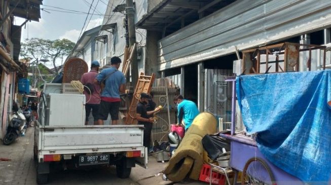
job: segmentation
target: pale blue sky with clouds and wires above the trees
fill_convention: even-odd
[[[39,22],[28,22],[25,26],[25,29],[23,26],[21,42],[23,42],[26,38],[37,37],[50,40],[67,38],[76,43],[87,14],[71,14],[53,10],[66,11],[58,9],[62,8],[87,13],[92,1],[93,0],[44,0],[43,5],[41,5],[41,8],[45,9],[44,11],[41,11],[42,18],[39,20]],[[107,4],[108,0],[94,0],[94,7],[97,2],[98,5],[94,14],[104,14],[107,8],[105,4]],[[90,13],[92,13],[93,10],[94,8],[91,9]],[[91,16],[89,15],[88,19],[86,20],[84,30],[89,30],[98,25],[101,25],[102,23],[103,16],[93,15],[88,24],[90,17]],[[20,25],[23,21],[23,19],[15,18],[14,24]]]

